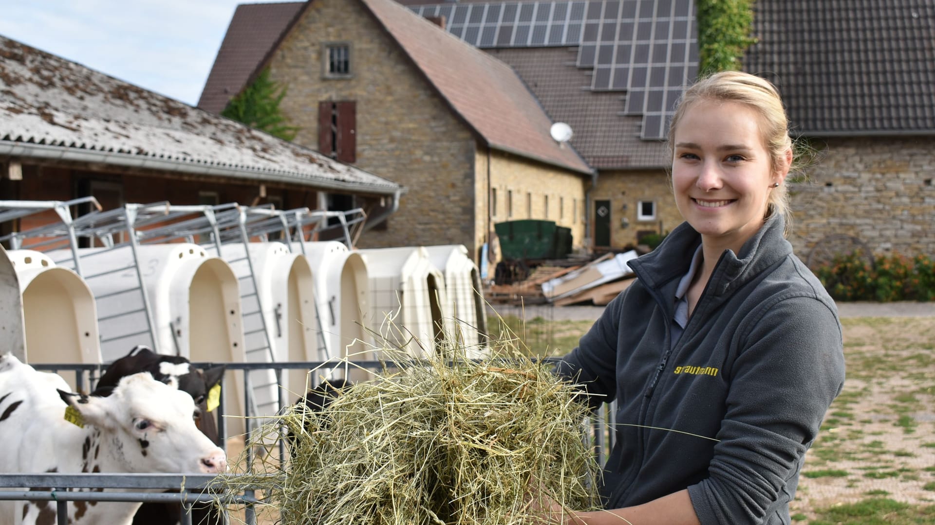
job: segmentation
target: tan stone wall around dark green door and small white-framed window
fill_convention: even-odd
[[[669,175],[662,170],[602,170],[597,177],[597,187],[591,192],[588,208],[591,222],[594,221],[594,202],[604,200],[611,201],[611,248],[636,245],[638,232],[665,234],[683,222],[672,197]],[[640,201],[655,203],[655,220],[637,220]]]

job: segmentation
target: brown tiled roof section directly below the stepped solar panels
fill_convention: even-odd
[[[485,50],[510,64],[554,121],[571,126],[571,145],[597,169],[670,163],[664,142],[640,139],[642,116],[620,115],[626,94],[590,90],[589,70],[575,65],[577,48]]]

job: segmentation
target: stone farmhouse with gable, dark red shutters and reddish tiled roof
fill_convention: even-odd
[[[198,106],[220,112],[266,68],[295,142],[407,188],[360,246],[464,244],[478,261],[494,223],[526,218],[582,245],[592,168],[509,65],[432,21],[393,0],[241,5]]]

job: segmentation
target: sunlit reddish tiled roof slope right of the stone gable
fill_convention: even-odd
[[[560,148],[536,97],[512,68],[445,33],[394,0],[361,0],[439,94],[494,149],[590,173],[574,149]]]

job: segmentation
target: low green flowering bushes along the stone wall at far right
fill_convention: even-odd
[[[831,297],[839,301],[933,301],[935,261],[928,255],[912,259],[894,253],[880,255],[870,266],[859,250],[836,256],[815,270]]]

